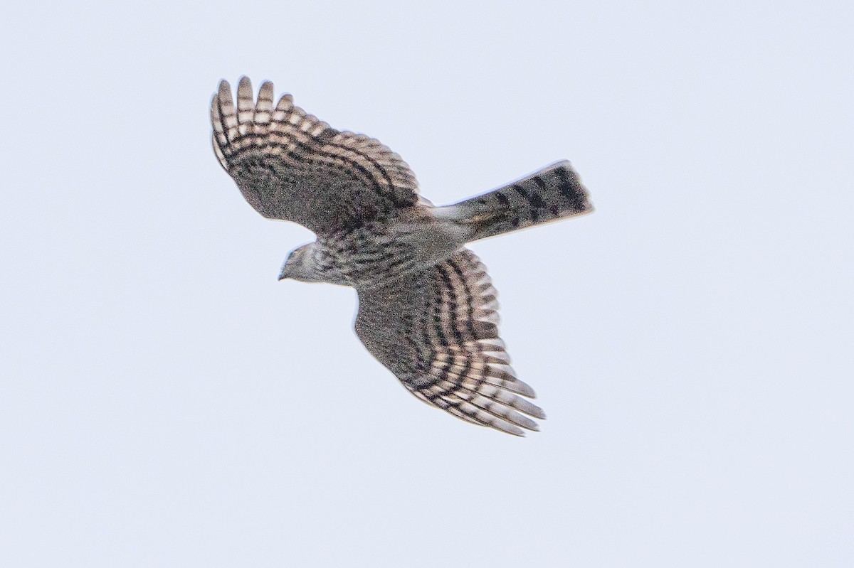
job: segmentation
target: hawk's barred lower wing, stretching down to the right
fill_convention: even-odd
[[[475,424],[524,436],[542,410],[518,380],[498,336],[495,288],[475,254],[359,292],[356,333],[368,351],[426,403]],[[521,428],[519,427],[521,426]]]

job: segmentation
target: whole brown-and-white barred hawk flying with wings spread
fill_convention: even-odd
[[[294,105],[257,99],[249,78],[211,102],[213,151],[262,216],[317,235],[279,279],[354,287],[355,331],[413,395],[457,418],[524,436],[545,418],[524,397],[498,334],[497,293],[465,244],[592,212],[568,161],[450,206],[418,194],[415,176],[379,141],[336,130]],[[521,396],[520,396],[521,395]]]

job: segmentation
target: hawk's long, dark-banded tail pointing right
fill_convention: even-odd
[[[470,226],[470,241],[478,241],[583,215],[593,211],[593,204],[578,174],[564,159],[488,193],[434,211],[437,217]]]

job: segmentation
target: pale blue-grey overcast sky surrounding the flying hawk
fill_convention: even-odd
[[[54,4],[0,36],[0,565],[854,565],[851,3]],[[541,432],[276,280],[242,74],[436,204],[572,161],[593,215],[472,246]]]

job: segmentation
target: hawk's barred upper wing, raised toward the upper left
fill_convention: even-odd
[[[415,176],[399,155],[368,136],[330,128],[290,95],[273,107],[270,82],[255,102],[249,78],[241,78],[235,108],[222,81],[211,122],[219,163],[264,217],[329,234],[418,202]]]

